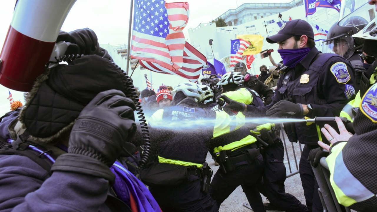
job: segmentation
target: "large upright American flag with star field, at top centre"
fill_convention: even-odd
[[[189,20],[187,2],[135,0],[131,58],[178,70],[183,63],[185,37],[182,29]]]

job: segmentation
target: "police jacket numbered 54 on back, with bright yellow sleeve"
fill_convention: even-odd
[[[192,124],[185,120],[198,121]],[[154,121],[173,123],[176,129],[156,128]],[[235,131],[244,123],[244,115],[229,116],[225,111],[198,108],[195,100],[188,98],[179,105],[156,111],[150,120],[150,134],[160,163],[201,168],[211,138]]]

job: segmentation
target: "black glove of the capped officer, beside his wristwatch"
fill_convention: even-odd
[[[299,103],[293,103],[287,100],[281,100],[274,104],[272,108],[270,108],[266,115],[272,117],[295,117],[295,118],[302,118],[303,117],[303,108],[302,105]]]

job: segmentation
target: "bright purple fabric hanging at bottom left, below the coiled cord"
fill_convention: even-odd
[[[147,187],[128,172],[121,163],[115,161],[110,170],[115,174],[113,188],[118,198],[127,204],[130,203],[130,195],[132,195],[137,203],[139,212],[161,212],[155,198],[150,194]]]

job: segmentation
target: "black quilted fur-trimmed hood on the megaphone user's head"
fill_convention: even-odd
[[[100,92],[116,89],[127,93],[124,72],[109,59],[85,55],[40,75],[25,93],[21,128],[38,143],[54,143],[72,129],[82,109]]]

